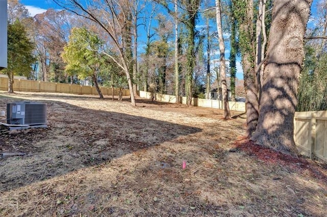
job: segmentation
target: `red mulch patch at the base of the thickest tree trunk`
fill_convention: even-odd
[[[282,152],[256,145],[251,140],[241,140],[235,143],[235,151],[243,151],[253,155],[261,161],[271,165],[287,167],[299,173],[309,171],[310,175],[324,183],[327,183],[327,165],[318,164],[315,161],[306,159],[303,156],[294,157]]]

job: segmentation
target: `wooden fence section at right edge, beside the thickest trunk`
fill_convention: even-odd
[[[327,161],[327,111],[296,112],[294,140],[302,154]]]

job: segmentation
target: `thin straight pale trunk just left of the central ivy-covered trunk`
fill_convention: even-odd
[[[175,0],[175,96],[179,103],[179,63],[178,63],[178,7]]]

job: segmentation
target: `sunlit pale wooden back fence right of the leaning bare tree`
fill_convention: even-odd
[[[151,92],[139,91],[139,96],[142,98],[151,99],[154,95]],[[176,102],[176,96],[166,94],[155,94],[155,99],[161,102]],[[181,97],[180,103],[186,104],[186,97]],[[193,106],[209,107],[209,108],[222,108],[222,101],[213,99],[198,99],[192,98]],[[230,110],[245,112],[244,102],[229,102]]]

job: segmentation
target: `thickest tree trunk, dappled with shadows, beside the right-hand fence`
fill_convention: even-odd
[[[297,153],[293,120],[304,57],[303,36],[312,1],[274,1],[258,128],[251,138],[291,154]]]

